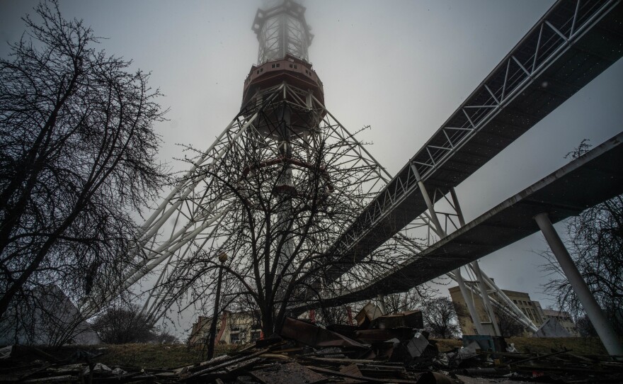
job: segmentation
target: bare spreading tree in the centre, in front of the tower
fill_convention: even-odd
[[[259,110],[243,108],[242,115],[260,117],[227,152],[217,157],[198,151],[212,161],[204,160],[210,165],[193,174],[204,186],[187,200],[222,215],[210,237],[200,239],[166,279],[169,290],[191,292],[190,300],[210,307],[223,269],[223,292],[248,296],[267,336],[279,331],[291,303],[321,301],[406,258],[385,244],[338,281],[328,278],[329,269],[348,264],[328,251],[370,201],[373,193],[362,183],[378,179],[379,169],[353,153],[350,134],[322,123],[321,112],[268,95]],[[253,101],[246,108],[258,107]],[[390,252],[396,253],[390,258]],[[228,258],[221,264],[217,256],[223,253]]]

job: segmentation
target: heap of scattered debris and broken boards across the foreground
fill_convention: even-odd
[[[288,318],[279,334],[210,361],[167,369],[107,366],[81,351],[61,360],[35,348],[3,349],[2,383],[595,383],[621,382],[623,363],[563,349],[526,354],[501,338],[466,336],[462,348],[438,351],[421,314],[381,316],[358,325]],[[512,351],[512,352],[511,352]],[[581,354],[581,351],[577,352]],[[30,360],[24,356],[31,356]]]

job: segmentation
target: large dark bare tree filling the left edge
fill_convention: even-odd
[[[0,60],[0,316],[56,283],[74,302],[119,286],[137,225],[164,181],[149,75],[97,51],[57,1],[26,16]]]

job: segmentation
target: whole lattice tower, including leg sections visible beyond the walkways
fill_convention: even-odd
[[[296,298],[288,297],[293,302],[299,299],[304,302],[309,287],[316,294],[331,288],[332,295],[341,295],[417,255],[434,242],[435,236],[446,235],[434,204],[429,204],[429,210],[407,227],[394,225],[387,229],[389,240],[378,234],[383,238],[378,243],[391,249],[389,254],[379,256],[379,268],[358,270],[361,260],[341,250],[344,244],[358,241],[358,237],[348,235],[348,230],[362,225],[358,221],[360,213],[379,214],[396,204],[396,200],[387,196],[382,196],[377,205],[370,204],[375,198],[379,200],[378,193],[384,186],[395,184],[396,193],[407,186],[400,178],[392,180],[324,105],[323,84],[309,62],[313,35],[304,13],[305,8],[291,0],[257,11],[252,29],[258,38],[258,64],[251,67],[244,81],[239,113],[210,147],[198,152],[190,170],[179,178],[175,188],[144,222],[142,235],[136,241],[134,260],[127,268],[126,283],[115,291],[98,292],[86,298],[81,307],[83,315],[93,315],[105,303],[142,281],[146,288],[143,293],[147,294],[143,311],[157,322],[184,295],[192,299],[209,294],[205,287],[214,280],[214,271],[219,267],[242,276],[244,281],[244,271],[252,269],[257,260],[250,260],[249,249],[234,239],[245,233],[244,228],[236,227],[242,215],[269,217],[270,225],[283,234],[280,235],[282,245],[270,259],[264,260],[283,277],[281,284],[287,282],[288,276],[321,264],[321,273],[302,284],[307,288],[302,288]],[[445,196],[446,192],[440,194]],[[462,221],[454,192],[452,201],[447,196],[444,198],[451,208],[450,213],[440,213],[445,215],[445,227],[448,218],[452,221],[458,217]],[[433,202],[437,200],[433,198]],[[310,207],[326,212],[319,220],[321,230],[306,237],[303,247],[307,256],[322,257],[302,267],[304,256],[293,253],[297,238],[292,233],[296,231],[288,229],[300,227],[300,221],[306,217],[300,213],[311,211]],[[339,213],[335,207],[343,210]],[[459,227],[454,222],[451,226]],[[428,232],[426,244],[414,241],[414,230]],[[269,244],[269,247],[273,246]],[[355,256],[356,252],[355,249]],[[223,253],[229,256],[227,265],[219,265]],[[197,260],[211,268],[203,273],[195,263]],[[476,263],[469,264],[469,268],[487,281],[488,277]],[[341,281],[347,272],[350,281],[348,278]],[[464,286],[459,269],[447,276]],[[198,281],[207,283],[198,287]],[[340,292],[336,290],[336,281]],[[468,288],[473,290],[462,289],[464,295],[468,294]],[[481,292],[485,289],[481,287]],[[501,290],[495,290],[505,304],[516,310]],[[519,310],[513,315],[527,327],[534,327]]]

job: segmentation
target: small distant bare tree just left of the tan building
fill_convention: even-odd
[[[450,339],[458,336],[457,311],[452,300],[434,298],[425,301],[421,307],[424,327],[433,337]]]

